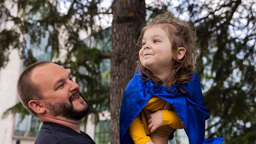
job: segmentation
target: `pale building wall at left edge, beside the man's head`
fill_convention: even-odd
[[[17,101],[16,84],[20,76],[21,69],[20,57],[18,51],[12,50],[9,55],[9,62],[5,68],[0,70],[0,116],[3,112],[14,106]],[[12,116],[8,116],[5,119],[0,119],[0,144],[12,143],[12,131],[13,131]]]

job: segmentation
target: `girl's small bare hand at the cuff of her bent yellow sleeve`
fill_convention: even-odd
[[[153,133],[157,128],[161,127],[163,123],[162,110],[158,110],[149,115],[148,129]]]

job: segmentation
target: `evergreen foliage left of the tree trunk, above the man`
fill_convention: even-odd
[[[104,45],[87,45],[79,37],[79,32],[83,31],[84,35],[98,33],[102,41],[104,38],[111,38],[109,32],[99,33],[102,28],[95,22],[97,18],[101,19],[100,13],[111,14],[111,9],[100,7],[100,3],[101,0],[1,1],[0,20],[4,27],[0,29],[0,68],[8,63],[12,49],[19,50],[24,68],[38,60],[52,60],[71,70],[72,76],[76,77],[76,82],[80,84],[91,113],[97,115],[102,109],[108,108],[109,84],[103,84],[101,80],[100,65],[103,59],[110,58],[110,51],[104,49]],[[70,6],[61,9],[61,4]],[[7,24],[10,25],[7,27]],[[41,51],[51,52],[51,58],[40,58],[37,54]],[[66,54],[59,58],[61,51]],[[18,103],[6,110],[3,116],[16,112],[21,114],[22,119],[29,114],[21,103]],[[87,117],[84,122],[86,119]]]

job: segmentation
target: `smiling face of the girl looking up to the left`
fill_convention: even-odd
[[[154,73],[170,69],[174,62],[170,39],[160,27],[145,31],[139,55],[141,64]]]

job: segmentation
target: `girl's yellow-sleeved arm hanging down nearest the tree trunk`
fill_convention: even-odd
[[[132,124],[129,126],[129,134],[132,137],[132,140],[135,144],[150,144],[152,142],[151,138],[147,136],[144,125],[140,120],[140,114],[132,121]],[[151,144],[154,144],[153,142]]]

